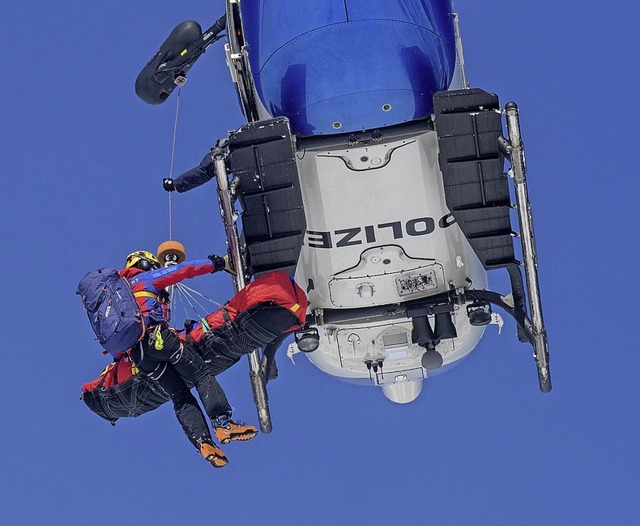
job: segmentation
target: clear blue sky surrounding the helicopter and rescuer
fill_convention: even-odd
[[[282,354],[273,433],[226,447],[223,470],[169,405],[112,428],[78,400],[107,360],[74,293],[167,239],[175,97],[148,106],[133,84],[175,24],[206,26],[224,2],[3,7],[3,523],[637,523],[637,6],[455,5],[470,82],[521,109],[554,390],[538,391],[509,323],[407,406]],[[176,173],[242,123],[219,43],[182,91]],[[224,250],[214,185],[173,213],[190,256]],[[200,279],[231,293],[226,276]],[[255,423],[246,364],[220,379]]]

